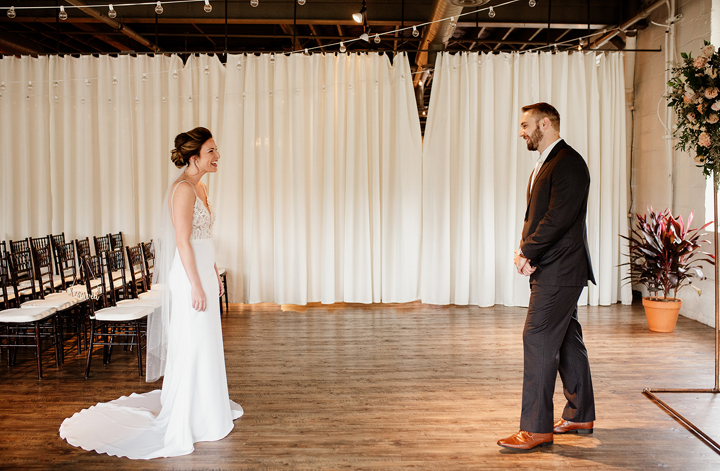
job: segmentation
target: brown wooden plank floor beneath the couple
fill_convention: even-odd
[[[716,454],[642,395],[644,387],[708,388],[714,330],[683,317],[647,330],[642,306],[580,308],[598,420],[591,436],[513,452],[523,308],[421,303],[231,305],[222,315],[230,398],[245,408],[220,442],[150,461],[71,447],[58,426],[81,408],[160,387],[131,352],[96,357],[84,379],[73,348],[37,380],[29,353],[0,357],[2,470],[720,470]],[[68,344],[69,348],[69,344]],[[665,395],[720,439],[720,398]],[[562,391],[555,395],[562,411]]]

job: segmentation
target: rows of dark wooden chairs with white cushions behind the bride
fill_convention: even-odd
[[[61,365],[63,340],[69,334],[76,337],[78,353],[88,347],[86,378],[94,346],[104,346],[107,363],[114,344],[137,349],[138,372],[143,375],[140,340],[146,333],[146,316],[157,303],[143,296],[150,290],[152,245],[122,250],[122,233],[114,241],[113,235],[94,237],[96,255],[90,253],[88,238],[73,244],[64,242],[64,234],[11,241],[9,252],[1,242],[0,347],[8,351],[9,366],[14,365],[18,347],[34,347],[42,378],[42,352],[54,347],[55,364]],[[53,277],[53,268],[59,279]]]

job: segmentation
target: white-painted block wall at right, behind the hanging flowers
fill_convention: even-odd
[[[720,1],[676,1],[675,14],[683,14],[683,18],[675,23],[677,59],[680,59],[680,52],[693,52],[693,56],[697,56],[703,40],[711,40],[711,12],[714,3]],[[667,7],[660,6],[652,12],[648,20],[665,23],[667,17]],[[718,47],[720,42],[716,41],[714,45]],[[664,49],[665,27],[649,24],[649,27],[640,30],[636,47]],[[658,119],[658,112],[665,118],[665,101],[661,99],[665,93],[666,68],[664,52],[636,54],[631,211],[644,214],[648,205],[652,205],[654,209],[670,207],[673,214],[681,214],[685,221],[690,211],[695,211],[692,227],[698,227],[706,220],[705,178],[688,153],[674,150],[676,140],[672,140],[671,157],[670,161],[668,160],[665,146],[667,132]],[[709,233],[707,238],[712,239],[713,234]],[[713,247],[708,244],[704,251],[712,253]],[[693,282],[703,291],[702,296],[698,296],[690,287],[685,287],[678,293],[678,297],[683,299],[680,314],[714,326],[714,269],[711,266],[704,268],[708,279]]]

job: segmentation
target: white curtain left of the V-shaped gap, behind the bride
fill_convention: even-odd
[[[421,140],[407,57],[272,60],[2,58],[0,238],[149,240],[174,136],[204,126],[222,155],[208,183],[232,301],[418,299]]]

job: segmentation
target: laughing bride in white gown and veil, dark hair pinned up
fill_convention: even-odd
[[[217,172],[212,134],[178,134],[172,160],[181,169],[163,199],[153,288],[161,308],[148,316],[148,381],[162,390],[122,396],[75,413],[60,425],[69,444],[131,459],[189,454],[195,442],[227,436],[243,408],[230,401],[222,349],[222,283],[215,265],[215,211],[200,181]],[[166,286],[169,289],[163,289]],[[210,302],[208,302],[210,301]]]

